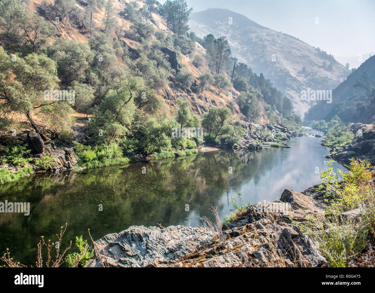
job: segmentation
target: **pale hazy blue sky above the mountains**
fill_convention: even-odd
[[[164,3],[161,0],[160,3]],[[375,0],[186,0],[194,12],[226,8],[336,56],[375,51]],[[315,24],[319,17],[319,24]]]

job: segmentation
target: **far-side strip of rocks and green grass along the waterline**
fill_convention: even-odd
[[[234,150],[249,150],[253,152],[261,150],[263,147],[288,147],[287,144],[282,143],[283,140],[290,140],[291,137],[301,136],[300,133],[297,133],[293,129],[279,123],[256,124],[244,122],[242,128],[243,135],[239,143],[234,144],[232,147]],[[3,136],[4,135],[5,134],[3,134]],[[112,156],[100,159],[96,158],[98,154],[94,154],[91,147],[86,147],[82,143],[67,140],[43,141],[40,135],[33,130],[22,131],[15,137],[9,139],[10,141],[22,141],[26,146],[19,156],[20,159],[23,158],[24,160],[27,160],[26,169],[28,171],[32,170],[31,173],[48,173],[48,171],[62,172],[63,170],[82,170],[88,168],[109,167],[134,162],[147,162],[155,159],[195,155],[198,152],[211,152],[221,148],[228,148],[226,146],[202,146],[198,147],[197,149],[160,152],[152,155],[133,154],[134,156],[131,157]],[[88,137],[85,138],[86,140],[84,140],[83,137],[80,139],[80,141],[85,142]],[[93,157],[91,160],[86,158],[83,159],[83,154],[82,152],[80,153],[78,151],[77,145],[80,145],[81,149],[87,149],[81,150],[82,152],[86,152],[85,156],[89,154],[91,156],[95,156],[95,158]],[[25,159],[25,156],[27,156],[28,159]],[[0,173],[0,182],[3,183],[17,181],[19,178],[23,177],[23,175],[29,176],[31,174],[28,171],[24,172],[23,168],[13,165],[11,162],[3,163],[0,165],[0,169],[4,169]]]

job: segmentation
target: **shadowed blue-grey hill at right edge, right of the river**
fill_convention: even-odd
[[[372,56],[332,91],[331,104],[320,101],[309,109],[305,120],[330,121],[338,115],[344,122],[374,123],[374,87],[375,56]]]

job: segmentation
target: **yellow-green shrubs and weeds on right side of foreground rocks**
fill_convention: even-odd
[[[327,162],[329,169],[321,172],[324,184],[318,189],[324,190],[330,200],[326,217],[309,215],[300,227],[318,242],[330,265],[344,267],[368,245],[368,233],[374,234],[375,192],[368,183],[372,177],[369,163],[351,159],[349,171],[344,172],[334,171],[332,162]],[[358,217],[342,216],[342,212],[355,208],[360,208]]]

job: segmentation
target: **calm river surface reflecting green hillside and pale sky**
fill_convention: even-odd
[[[89,239],[88,228],[93,239],[98,239],[133,225],[202,225],[198,215],[212,219],[211,206],[218,207],[223,220],[237,192],[242,192],[243,202],[257,203],[279,198],[285,188],[301,192],[320,183],[316,170],[327,169],[324,155],[328,153],[320,141],[295,137],[287,141],[290,149],[220,150],[3,184],[1,202],[30,202],[31,211],[29,216],[0,214],[0,253],[8,247],[15,260],[31,265],[40,236],[56,241],[55,234],[65,223],[64,248],[75,236]],[[145,174],[142,167],[146,167]],[[343,169],[337,163],[334,167]]]

